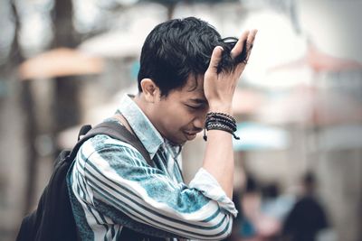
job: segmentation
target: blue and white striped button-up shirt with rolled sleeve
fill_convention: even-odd
[[[237,211],[214,177],[201,168],[186,185],[179,168],[181,147],[167,142],[131,97],[122,98],[118,112],[155,167],[133,146],[108,135],[82,144],[68,172],[81,240],[119,240],[124,226],[169,240],[228,236]]]

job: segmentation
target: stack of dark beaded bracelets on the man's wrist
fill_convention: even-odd
[[[233,138],[240,140],[240,137],[236,136],[236,121],[233,116],[229,116],[224,113],[210,112],[206,116],[205,128],[204,128],[204,140],[207,141],[206,130],[221,130],[233,134]]]

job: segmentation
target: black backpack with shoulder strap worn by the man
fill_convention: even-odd
[[[97,134],[107,134],[110,137],[134,146],[151,166],[149,154],[138,138],[129,130],[116,122],[104,122],[91,128],[83,125],[78,135],[78,143],[71,151],[64,150],[55,161],[55,168],[48,185],[43,190],[38,207],[26,216],[21,224],[17,241],[52,241],[81,240],[71,210],[71,201],[66,181],[67,172],[71,168],[81,144]],[[81,135],[84,135],[81,137]],[[123,227],[120,240],[165,240],[146,236]]]

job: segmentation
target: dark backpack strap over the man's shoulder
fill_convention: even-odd
[[[81,127],[81,131],[78,137],[80,138],[81,135],[85,133],[86,134],[83,137],[81,137],[81,140],[79,140],[78,143],[71,150],[69,160],[71,161],[74,160],[79,149],[81,148],[81,144],[85,143],[91,137],[94,137],[97,134],[107,134],[114,139],[125,142],[135,147],[138,150],[138,152],[142,154],[143,158],[145,158],[148,164],[152,167],[154,166],[154,163],[152,162],[145,146],[138,140],[138,138],[135,135],[131,134],[125,126],[120,125],[117,122],[103,122],[90,129],[90,131],[88,131],[89,129],[90,125],[83,125]]]

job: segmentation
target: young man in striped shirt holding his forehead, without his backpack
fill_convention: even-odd
[[[243,32],[230,42],[193,17],[160,23],[149,33],[141,52],[138,95],[124,97],[118,117],[107,121],[135,134],[155,165],[107,135],[82,145],[69,172],[81,240],[136,240],[124,237],[129,230],[143,240],[220,240],[230,234],[237,214],[231,200],[232,99],[255,34]],[[206,118],[211,112],[218,114]],[[203,130],[205,119],[203,167],[187,186],[179,153]]]

